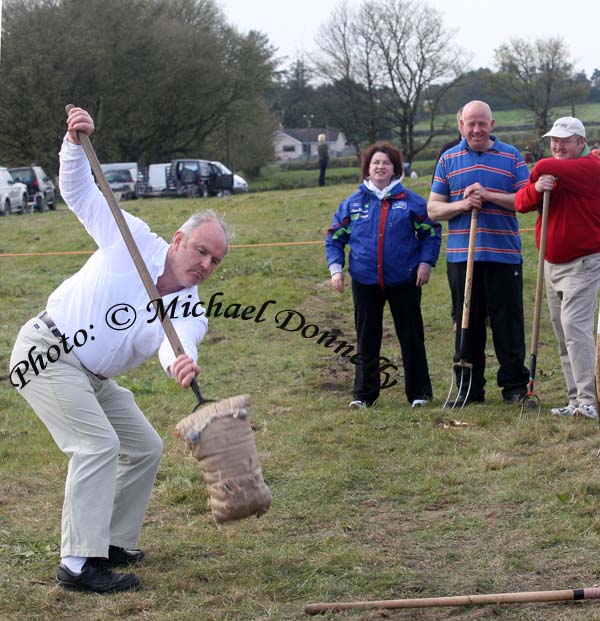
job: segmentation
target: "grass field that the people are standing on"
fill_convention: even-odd
[[[409,182],[411,183],[411,182]],[[411,183],[427,191],[427,180]],[[354,343],[350,296],[331,290],[322,239],[353,185],[211,200],[237,229],[230,255],[200,289],[229,304],[268,306],[262,323],[209,320],[200,349],[203,392],[248,393],[273,506],[259,520],[217,526],[198,463],[173,435],[194,404],[156,359],[118,381],[133,390],[165,442],[140,545],[143,589],[101,597],[54,582],[66,458],[8,381],[20,325],[86,254],[0,257],[0,619],[258,621],[307,618],[309,602],[554,590],[599,582],[600,438],[588,420],[549,414],[565,401],[555,340],[543,308],[539,420],[519,422],[501,402],[488,348],[486,403],[436,426],[451,371],[445,259],[424,289],[434,403],[412,410],[398,385],[369,411],[350,411],[353,368],[299,331],[278,328],[294,310]],[[127,208],[170,238],[200,200],[140,200]],[[529,229],[533,216],[523,217]],[[307,242],[284,245],[285,242]],[[308,243],[317,242],[317,243]],[[261,245],[264,244],[264,245]],[[269,245],[279,244],[279,245]],[[523,233],[526,323],[537,254]],[[85,253],[93,243],[63,206],[0,219],[0,253]],[[281,315],[279,315],[281,318]],[[382,354],[401,368],[386,316]],[[314,332],[311,329],[307,334]],[[529,351],[529,336],[527,336]],[[347,611],[326,619],[600,619],[600,604],[528,604]]]

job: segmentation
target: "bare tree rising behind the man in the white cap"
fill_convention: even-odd
[[[561,37],[514,38],[494,50],[502,84],[511,100],[529,110],[537,135],[534,156],[544,153],[541,136],[552,125],[552,108],[570,103],[575,80],[569,51]]]

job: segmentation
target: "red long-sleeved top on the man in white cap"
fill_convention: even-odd
[[[529,183],[515,196],[517,211],[541,209],[543,194],[536,191],[534,183],[542,175],[558,177],[550,193],[545,259],[567,263],[600,252],[600,158],[586,155],[540,160],[531,171]],[[535,223],[538,248],[540,229],[541,216]]]

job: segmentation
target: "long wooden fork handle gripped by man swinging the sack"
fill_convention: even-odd
[[[74,107],[75,106],[73,104],[68,104],[65,108],[67,114]],[[96,177],[96,181],[98,185],[100,186],[100,189],[102,190],[102,194],[104,194],[104,198],[106,198],[106,202],[108,203],[110,211],[112,212],[112,215],[115,219],[117,227],[119,228],[119,231],[121,231],[121,235],[123,236],[123,241],[125,242],[125,245],[127,246],[127,250],[129,250],[129,254],[131,255],[131,258],[135,264],[135,267],[137,268],[138,274],[140,275],[140,278],[142,279],[142,283],[144,284],[144,287],[146,288],[146,291],[148,295],[150,296],[150,300],[152,301],[152,304],[154,305],[154,308],[156,309],[157,315],[160,318],[165,334],[167,335],[167,338],[169,339],[169,343],[171,344],[171,347],[173,348],[173,351],[175,352],[176,356],[185,354],[185,350],[183,349],[181,340],[179,339],[179,336],[177,332],[175,331],[175,327],[173,326],[173,322],[171,321],[171,318],[168,316],[168,314],[164,312],[160,312],[159,310],[158,300],[160,300],[162,296],[158,292],[158,289],[156,288],[156,285],[154,284],[154,281],[152,280],[152,276],[150,275],[150,272],[148,271],[148,268],[146,267],[146,264],[144,263],[144,259],[142,258],[142,255],[140,254],[137,244],[135,243],[135,239],[133,238],[133,235],[131,234],[129,225],[127,224],[127,221],[125,220],[125,216],[123,216],[123,212],[121,211],[121,208],[119,207],[119,203],[117,202],[117,199],[115,198],[115,195],[113,194],[112,188],[110,187],[108,181],[106,180],[106,176],[104,175],[104,171],[102,170],[102,167],[100,166],[100,162],[98,161],[98,157],[96,155],[96,152],[94,151],[94,147],[92,146],[90,137],[87,134],[84,134],[83,132],[77,132],[77,137],[79,138],[79,141],[81,142],[81,146],[83,147],[83,150],[88,158],[90,167],[92,168],[92,172],[94,173],[94,177]],[[198,386],[198,382],[196,381],[196,378],[192,380],[190,388],[192,389],[192,391],[196,395],[196,398],[198,399],[198,404],[196,407],[198,407],[198,405],[202,405],[203,403],[209,402],[208,399],[205,399],[202,396],[202,393],[200,392],[200,387]]]

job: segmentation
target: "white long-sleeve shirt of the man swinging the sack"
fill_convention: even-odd
[[[83,148],[66,138],[60,151],[60,191],[98,250],[50,295],[48,314],[66,335],[69,347],[75,344],[76,336],[78,343],[85,341],[72,351],[93,373],[105,377],[124,373],[157,350],[163,368],[169,373],[168,367],[175,360],[173,349],[154,307],[149,306],[146,289],[110,208],[94,183]],[[123,214],[156,283],[164,271],[169,244],[139,218],[125,211]],[[165,309],[174,298],[177,302],[173,325],[186,354],[197,360],[197,346],[208,327],[197,289],[189,287],[164,296]],[[182,307],[183,304],[186,306]],[[186,309],[188,316],[184,317]],[[193,316],[191,309],[194,315],[201,316]]]

